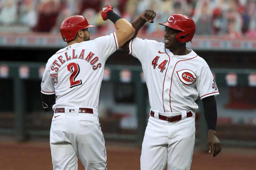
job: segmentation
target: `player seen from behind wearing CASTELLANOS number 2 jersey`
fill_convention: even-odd
[[[50,130],[53,169],[77,169],[79,158],[85,169],[106,170],[106,148],[98,118],[99,90],[107,58],[134,35],[135,29],[113,12],[101,10],[117,31],[90,40],[88,24],[81,15],[66,18],[60,27],[67,46],[47,62],[41,83],[45,111],[54,110]],[[56,96],[56,101],[55,101]]]

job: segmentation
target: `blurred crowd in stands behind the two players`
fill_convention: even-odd
[[[180,13],[195,21],[197,35],[256,37],[256,0],[0,0],[0,32],[59,32],[63,19],[84,15],[97,26],[91,33],[109,34],[115,27],[100,15],[108,4],[131,23],[144,10],[154,10],[154,24],[147,23],[142,33],[162,34],[158,23]]]

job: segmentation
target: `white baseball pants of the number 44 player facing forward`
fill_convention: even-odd
[[[194,144],[194,117],[167,122],[150,116],[142,143],[141,170],[162,170],[166,163],[168,170],[189,170]]]

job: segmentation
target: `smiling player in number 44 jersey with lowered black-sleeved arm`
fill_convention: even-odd
[[[145,10],[132,23],[136,32],[153,22],[155,12]],[[149,19],[148,19],[149,18]],[[172,14],[165,23],[164,43],[131,39],[123,49],[139,59],[149,91],[150,117],[142,143],[141,170],[190,169],[195,143],[195,100],[203,101],[208,125],[209,153],[216,156],[221,145],[216,137],[218,88],[209,66],[186,43],[195,33],[194,21]]]

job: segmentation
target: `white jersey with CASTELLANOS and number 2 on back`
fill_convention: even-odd
[[[43,94],[56,94],[58,107],[98,108],[107,58],[118,50],[115,33],[75,43],[56,52],[47,62],[41,83]]]

